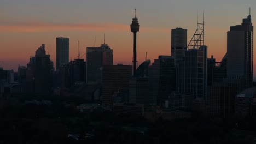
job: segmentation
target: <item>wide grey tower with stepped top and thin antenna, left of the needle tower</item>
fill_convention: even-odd
[[[113,50],[107,44],[86,49],[86,81],[87,83],[102,82],[102,66],[113,65]]]

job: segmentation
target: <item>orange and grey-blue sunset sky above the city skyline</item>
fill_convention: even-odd
[[[74,59],[78,40],[83,55],[86,47],[94,45],[95,37],[95,46],[103,43],[104,33],[114,61],[131,64],[134,8],[141,25],[137,36],[139,62],[144,61],[146,52],[152,61],[158,55],[171,55],[173,28],[188,29],[189,42],[196,30],[197,9],[199,21],[205,10],[208,57],[214,55],[220,61],[226,53],[229,26],[240,25],[249,7],[256,26],[255,0],[0,0],[0,67],[16,70],[18,64],[26,65],[41,44],[47,45],[47,50],[50,44],[55,63],[56,37],[60,36],[69,37],[69,59]]]

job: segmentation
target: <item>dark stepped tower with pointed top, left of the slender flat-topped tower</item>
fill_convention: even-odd
[[[27,64],[27,81],[30,92],[49,93],[53,83],[53,62],[46,55],[44,44],[36,50]],[[32,85],[32,86],[31,86]],[[33,86],[34,85],[34,86]]]

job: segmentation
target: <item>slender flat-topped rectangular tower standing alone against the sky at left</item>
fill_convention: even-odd
[[[69,62],[69,38],[56,38],[56,70]]]

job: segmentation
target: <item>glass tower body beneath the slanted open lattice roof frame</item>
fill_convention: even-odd
[[[207,46],[185,51],[176,75],[176,91],[205,98],[207,88]]]

